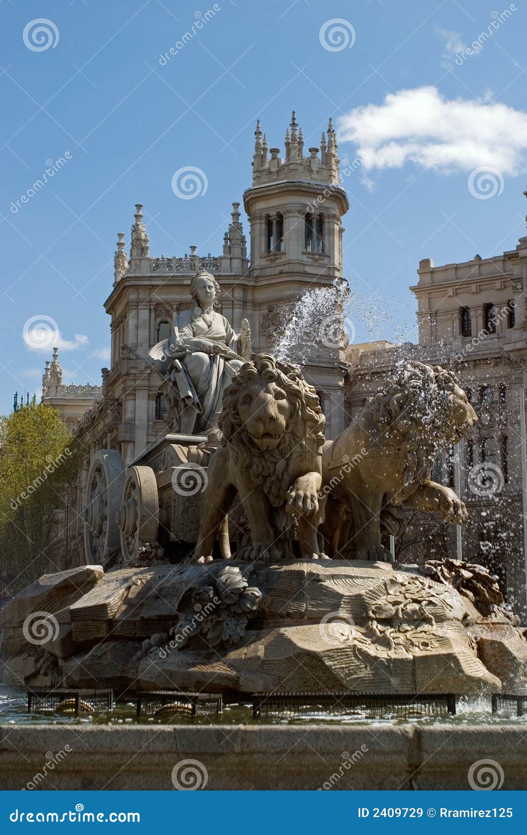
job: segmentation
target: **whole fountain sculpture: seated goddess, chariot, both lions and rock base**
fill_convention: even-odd
[[[213,276],[190,294],[150,357],[175,432],[126,469],[95,456],[84,518],[103,564],[45,575],[8,604],[4,676],[241,697],[527,694],[527,643],[496,579],[448,553],[394,563],[386,547],[404,509],[467,519],[430,474],[477,421],[454,375],[403,364],[326,443],[301,368],[251,355],[249,323],[236,334],[215,311]],[[58,624],[45,649],[24,632],[38,610]]]

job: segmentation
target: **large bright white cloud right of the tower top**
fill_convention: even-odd
[[[448,100],[435,87],[399,90],[383,104],[352,109],[337,129],[362,154],[366,172],[408,162],[441,174],[491,165],[516,175],[527,167],[527,113],[498,102]]]

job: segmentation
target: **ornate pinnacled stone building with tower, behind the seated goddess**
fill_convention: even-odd
[[[255,352],[272,347],[287,310],[305,291],[332,286],[342,277],[342,215],[349,204],[340,185],[331,119],[320,148],[306,154],[293,112],[285,153],[279,154],[278,148],[268,148],[258,122],[251,186],[243,195],[250,252],[237,202],[217,256],[198,253],[195,246],[184,256],[151,256],[141,204],[135,207],[129,253],[119,232],[113,286],[104,302],[110,316],[111,363],[103,369],[102,397],[79,423],[87,456],[84,478],[73,485],[70,497],[68,562],[84,561],[80,510],[89,458],[98,449],[114,449],[127,466],[169,431],[160,393],[163,379],[148,357],[169,336],[175,313],[190,307],[192,276],[200,270],[215,276],[221,313],[236,332],[241,320],[248,319]],[[346,425],[345,375],[342,347],[317,347],[304,367],[327,414],[328,438]]]

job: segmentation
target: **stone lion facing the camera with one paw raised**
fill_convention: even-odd
[[[226,519],[236,493],[251,531],[239,559],[279,559],[296,555],[294,549],[309,559],[326,557],[317,538],[324,423],[317,393],[297,367],[269,354],[241,367],[223,397],[223,437],[208,467],[198,562],[212,559],[216,535],[223,557],[231,556]]]

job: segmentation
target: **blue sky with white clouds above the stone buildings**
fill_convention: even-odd
[[[220,253],[231,201],[250,185],[257,117],[283,151],[292,108],[306,148],[331,115],[341,159],[362,151],[344,219],[357,341],[417,339],[408,286],[421,258],[485,257],[524,235],[525,0],[220,0],[160,62],[213,8],[3,0],[0,412],[15,389],[38,391],[51,356],[24,342],[33,316],[58,324],[65,382],[100,382],[103,302],[134,203],[144,203],[151,255]],[[43,40],[28,27],[38,18],[53,24]],[[208,181],[193,200],[171,188],[184,166]],[[489,168],[479,183],[474,171]]]

